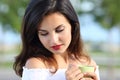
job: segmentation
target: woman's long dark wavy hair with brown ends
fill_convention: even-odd
[[[83,43],[80,36],[80,24],[77,14],[69,0],[31,0],[28,4],[22,23],[22,50],[14,62],[14,70],[17,75],[22,76],[23,66],[29,58],[41,58],[43,62],[58,69],[53,53],[48,51],[38,38],[38,26],[44,16],[59,12],[63,14],[72,26],[72,40],[67,49],[68,56],[74,55],[76,59],[89,56],[83,52]]]

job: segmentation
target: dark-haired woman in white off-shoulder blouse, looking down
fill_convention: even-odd
[[[99,80],[83,51],[77,15],[69,0],[31,0],[22,25],[22,51],[14,69],[22,80]],[[82,73],[79,65],[93,66]]]

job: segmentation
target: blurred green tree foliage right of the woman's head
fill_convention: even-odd
[[[79,0],[80,3],[88,2],[94,5],[94,8],[88,12],[77,10],[78,14],[92,14],[95,21],[102,27],[109,30],[114,26],[120,27],[120,0]],[[81,5],[79,4],[79,5]]]

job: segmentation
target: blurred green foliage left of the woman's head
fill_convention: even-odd
[[[1,0],[0,23],[4,29],[20,32],[22,16],[28,0]]]

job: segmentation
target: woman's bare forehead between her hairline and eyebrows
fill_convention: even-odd
[[[61,13],[52,13],[45,16],[42,22],[39,25],[39,29],[46,29],[46,28],[53,28],[57,27],[58,25],[68,25],[69,21],[67,18]]]

